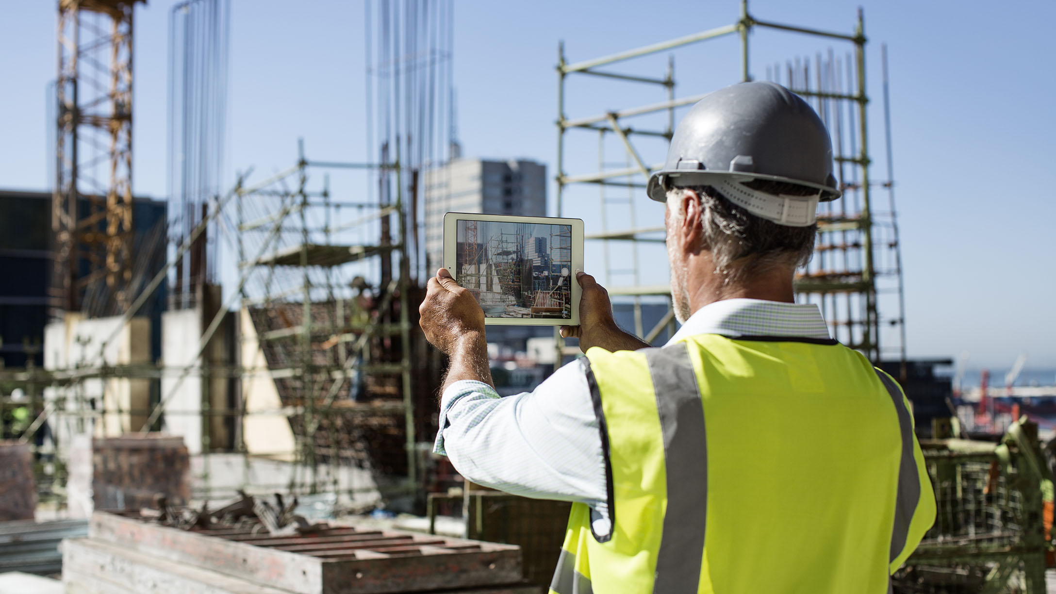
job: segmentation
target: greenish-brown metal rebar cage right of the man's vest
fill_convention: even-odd
[[[936,522],[894,574],[894,592],[1045,592],[1052,472],[1036,435],[1036,426],[1015,423],[1000,444],[922,442]]]

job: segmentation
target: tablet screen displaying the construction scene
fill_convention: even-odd
[[[572,227],[458,221],[455,276],[488,317],[571,318]]]

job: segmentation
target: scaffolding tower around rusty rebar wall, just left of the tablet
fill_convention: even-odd
[[[335,200],[326,178],[313,190],[310,172],[326,169],[393,175],[394,200]],[[414,414],[411,356],[412,332],[420,333],[411,314],[416,310],[411,293],[417,287],[410,278],[400,174],[398,163],[310,162],[302,148],[286,175],[237,192],[243,271],[238,292],[283,404],[299,409],[291,423],[313,493],[322,458],[332,465],[377,464],[417,484],[415,435],[422,428]],[[360,230],[373,225],[381,229],[377,242],[353,241],[372,235]],[[380,271],[376,286],[360,274],[362,264]],[[417,342],[423,350],[423,340]],[[367,451],[396,433],[403,443],[388,445],[404,453],[402,461]]]

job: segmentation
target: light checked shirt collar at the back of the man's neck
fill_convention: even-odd
[[[709,303],[690,316],[667,344],[694,334],[831,339],[816,304],[762,299],[722,299]]]

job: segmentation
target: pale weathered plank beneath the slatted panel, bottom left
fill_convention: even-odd
[[[89,538],[62,543],[62,580],[68,591],[114,591],[156,594],[289,594],[247,579],[201,568],[158,561],[128,549]],[[71,588],[74,584],[74,588]]]

